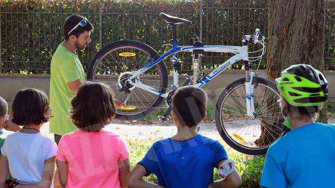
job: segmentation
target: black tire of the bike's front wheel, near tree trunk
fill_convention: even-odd
[[[245,87],[245,80],[246,78],[240,78],[238,80],[235,80],[234,82],[230,83],[220,94],[217,102],[216,102],[216,107],[215,107],[215,124],[216,124],[216,128],[220,134],[220,136],[222,137],[222,139],[233,149],[245,153],[245,154],[251,154],[251,155],[261,155],[261,154],[265,154],[268,147],[274,142],[272,142],[271,144],[267,145],[266,147],[260,147],[260,148],[249,148],[246,147],[244,145],[241,145],[239,142],[235,141],[232,136],[230,136],[230,134],[228,133],[223,120],[222,120],[222,106],[223,106],[223,102],[225,102],[226,98],[228,97],[228,95],[232,92],[234,92],[234,89],[236,90],[239,87]],[[277,91],[276,85],[268,80],[268,79],[264,79],[261,77],[257,77],[258,80],[258,84],[264,85],[266,87],[268,87],[269,89],[272,89],[272,91],[274,91],[277,95],[279,95],[279,92]],[[279,109],[280,110],[280,109]],[[282,114],[280,114],[281,118],[282,118]],[[251,125],[252,126],[252,125]],[[262,126],[262,125],[261,125]],[[283,135],[285,135],[287,133],[287,130],[285,129],[285,126],[282,125],[283,130],[281,131],[280,135],[278,136],[278,138],[282,137]],[[248,128],[249,130],[249,128]],[[242,131],[243,132],[243,131]],[[277,138],[277,139],[278,139]],[[276,140],[277,140],[276,139]]]

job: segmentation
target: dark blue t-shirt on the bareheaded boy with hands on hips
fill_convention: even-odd
[[[167,188],[207,188],[213,171],[228,155],[218,142],[202,135],[185,141],[171,138],[158,141],[139,162],[155,174],[158,184]]]

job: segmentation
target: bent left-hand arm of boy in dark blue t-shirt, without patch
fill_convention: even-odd
[[[164,188],[157,184],[142,180],[142,177],[147,174],[147,170],[140,164],[137,164],[132,169],[127,177],[126,186],[129,188]]]

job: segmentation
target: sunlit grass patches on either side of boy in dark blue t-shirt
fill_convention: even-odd
[[[130,151],[129,159],[131,168],[133,168],[137,164],[137,162],[139,162],[144,157],[144,155],[153,145],[153,143],[158,140],[159,139],[140,139],[127,141],[127,145]],[[223,141],[221,141],[221,144],[228,152],[228,156],[236,161],[236,169],[240,172],[243,180],[241,188],[259,188],[259,181],[263,169],[264,157],[240,153],[230,148]],[[157,184],[157,178],[153,174],[148,177],[144,177],[144,180]],[[214,170],[214,180],[219,180],[216,169]]]

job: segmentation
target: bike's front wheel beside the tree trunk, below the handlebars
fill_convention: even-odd
[[[265,154],[268,147],[285,134],[280,95],[276,85],[257,77],[254,87],[254,118],[247,115],[245,78],[230,83],[216,103],[216,128],[223,140],[245,154]]]

